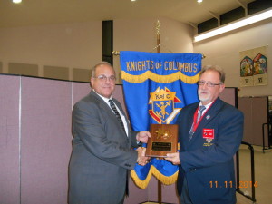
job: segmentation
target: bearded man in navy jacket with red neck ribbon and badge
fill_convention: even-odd
[[[199,73],[200,102],[180,112],[180,152],[168,154],[166,160],[180,167],[181,204],[236,203],[233,156],[242,141],[244,116],[219,99],[224,81],[218,66],[204,67]]]

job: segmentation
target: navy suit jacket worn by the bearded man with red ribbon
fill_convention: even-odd
[[[194,204],[234,204],[236,182],[233,156],[243,137],[243,113],[218,98],[205,112],[189,141],[189,130],[198,106],[199,102],[183,108],[177,121],[180,140],[178,191],[181,194],[186,177],[189,196]],[[206,141],[203,129],[214,130],[214,140]]]

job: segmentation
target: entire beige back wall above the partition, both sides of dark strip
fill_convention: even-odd
[[[156,46],[157,20],[114,20],[113,50],[156,52],[153,48]],[[167,18],[159,20],[161,53],[193,52],[193,29],[189,25]],[[38,73],[41,77],[88,81],[90,76],[86,69],[101,60],[101,21],[0,29],[3,73],[11,73],[9,64],[16,64],[13,73],[16,70],[19,74]],[[37,70],[31,71],[34,65]],[[113,65],[117,83],[121,83],[119,56],[114,57]],[[26,72],[26,69],[29,70]]]

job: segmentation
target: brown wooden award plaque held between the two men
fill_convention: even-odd
[[[177,124],[151,124],[151,138],[149,138],[146,156],[166,157],[167,153],[178,151]]]

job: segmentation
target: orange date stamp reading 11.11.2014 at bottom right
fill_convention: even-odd
[[[243,181],[238,181],[237,183],[233,183],[232,180],[230,181],[224,181],[222,183],[219,183],[217,180],[211,180],[209,181],[209,187],[210,188],[236,188],[236,189],[242,189],[242,188],[252,188],[254,186],[257,188],[258,184],[257,181],[248,181],[248,180],[243,180]]]

